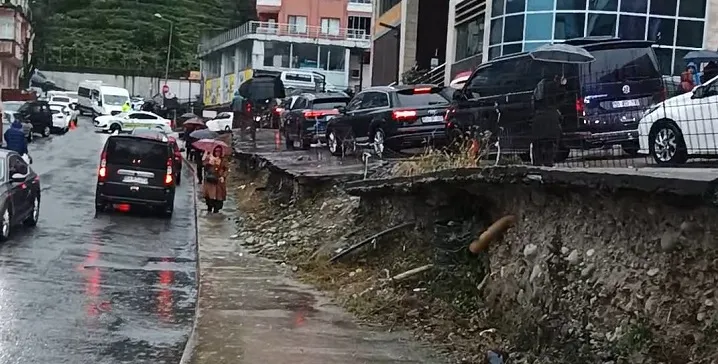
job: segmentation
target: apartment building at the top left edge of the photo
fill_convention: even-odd
[[[0,88],[19,88],[25,58],[32,55],[27,0],[0,4]]]

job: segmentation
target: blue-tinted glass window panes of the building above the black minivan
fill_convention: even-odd
[[[584,36],[652,40],[661,71],[704,47],[706,0],[488,0],[488,58]]]

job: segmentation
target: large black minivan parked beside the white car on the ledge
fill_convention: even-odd
[[[626,153],[637,153],[643,112],[665,99],[653,43],[591,37],[565,43],[586,49],[595,60],[544,62],[525,52],[480,65],[454,94],[446,115],[448,137],[478,126],[499,135],[502,153],[527,153],[534,139],[534,91],[541,80],[557,77],[565,81],[555,104],[562,127],[557,161],[570,149],[621,145]]]

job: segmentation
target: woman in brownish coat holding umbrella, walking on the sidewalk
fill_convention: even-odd
[[[204,186],[202,192],[207,203],[207,211],[217,213],[222,209],[227,198],[227,160],[229,146],[219,140],[202,139],[195,142],[195,147],[204,150]]]

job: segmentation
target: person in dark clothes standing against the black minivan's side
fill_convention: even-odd
[[[561,113],[567,80],[564,76],[542,79],[534,89],[534,115],[531,119],[530,154],[533,165],[553,166],[561,139]]]

